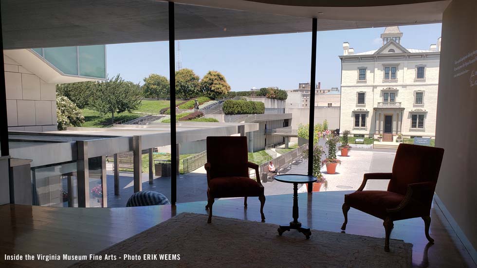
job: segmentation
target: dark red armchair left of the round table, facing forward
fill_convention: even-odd
[[[255,169],[257,180],[250,179],[248,169]],[[260,182],[258,165],[248,161],[247,137],[207,137],[207,206],[212,222],[214,198],[245,197],[243,205],[247,207],[247,197],[258,197],[260,214],[265,221],[263,205],[265,195]]]

